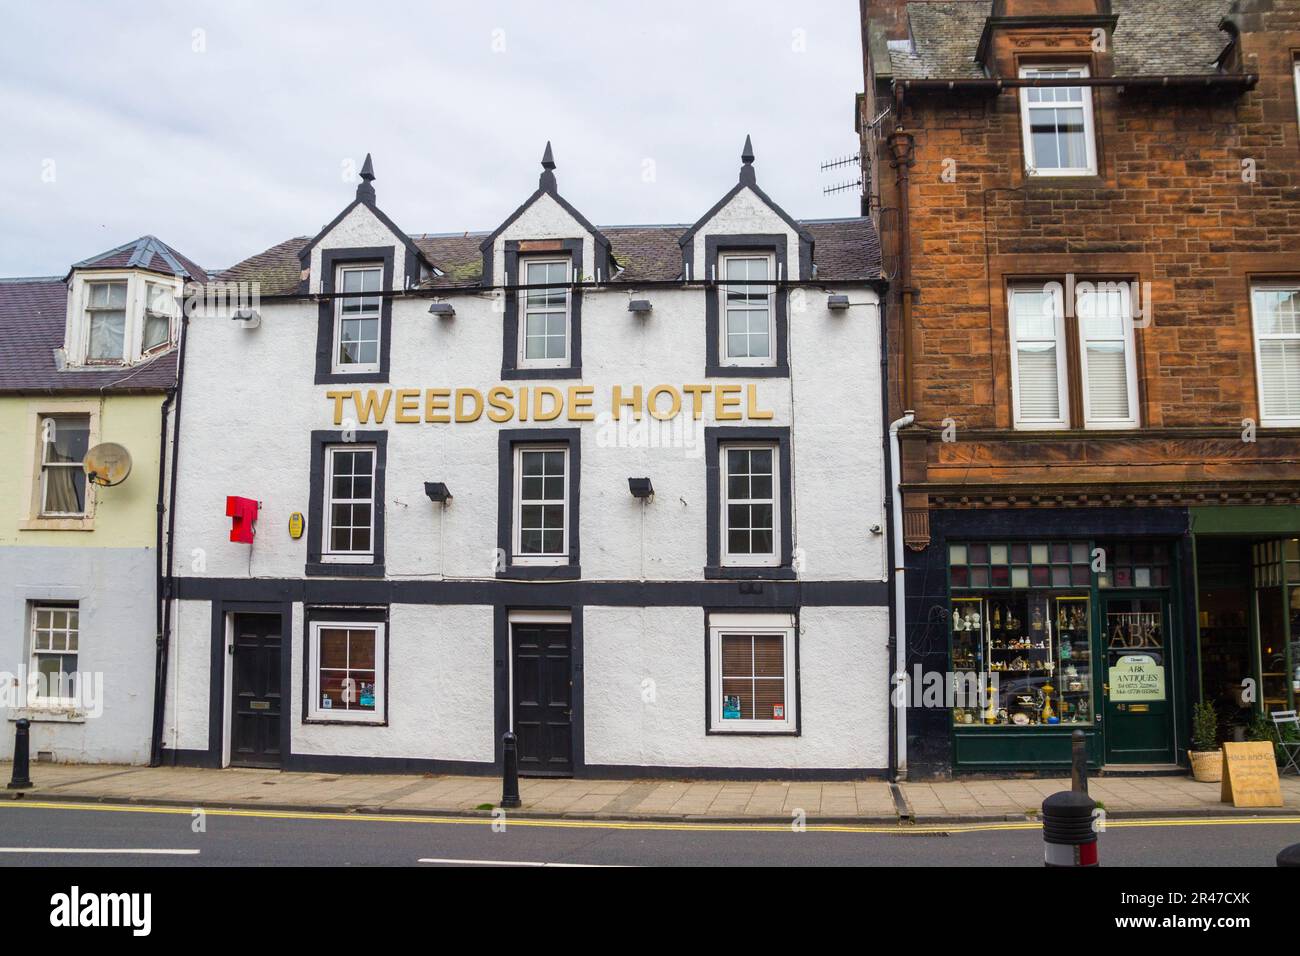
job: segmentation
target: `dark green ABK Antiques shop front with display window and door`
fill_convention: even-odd
[[[1199,693],[1186,509],[931,512],[909,555],[907,669],[952,692],[907,711],[914,777],[1187,762]]]

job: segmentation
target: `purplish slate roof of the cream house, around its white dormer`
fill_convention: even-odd
[[[140,267],[144,268],[144,267]],[[176,350],[130,368],[60,372],[68,286],[57,276],[0,278],[0,390],[156,392],[176,385]]]

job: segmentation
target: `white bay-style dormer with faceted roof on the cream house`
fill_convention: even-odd
[[[204,269],[161,239],[142,235],[69,269],[64,368],[122,368],[176,347],[187,282]]]

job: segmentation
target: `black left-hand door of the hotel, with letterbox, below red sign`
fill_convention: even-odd
[[[230,762],[280,766],[280,615],[237,614],[231,661]]]

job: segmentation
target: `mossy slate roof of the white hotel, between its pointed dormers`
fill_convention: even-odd
[[[800,224],[814,239],[812,259],[818,278],[879,278],[880,241],[867,219],[810,220]],[[610,241],[621,272],[611,282],[672,281],[681,276],[679,239],[689,225],[601,226]],[[422,289],[476,289],[482,280],[480,243],[486,232],[412,235],[420,251],[439,272]],[[304,237],[286,239],[264,252],[233,265],[216,278],[257,281],[261,295],[295,295],[299,291],[299,250]]]

